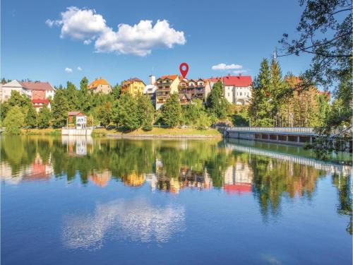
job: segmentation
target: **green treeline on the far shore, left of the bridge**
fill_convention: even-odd
[[[222,91],[222,83],[216,83],[206,105],[201,100],[181,105],[179,95],[172,94],[156,112],[148,95],[121,94],[119,84],[107,95],[91,93],[84,77],[80,88],[69,81],[66,87],[57,87],[50,99],[51,110],[44,106],[38,113],[29,98],[12,91],[8,102],[0,106],[1,126],[6,127],[8,134],[20,134],[22,128],[61,128],[66,125],[68,111],[79,110],[88,116],[88,126],[118,126],[129,131],[150,130],[153,124],[205,129],[227,118],[229,103],[222,97]]]

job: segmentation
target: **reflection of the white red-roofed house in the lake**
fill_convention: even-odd
[[[246,163],[236,162],[225,170],[223,189],[227,193],[251,192],[253,170]]]

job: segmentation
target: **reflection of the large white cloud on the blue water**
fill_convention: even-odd
[[[155,206],[146,199],[98,204],[92,214],[66,216],[63,241],[69,248],[100,248],[104,238],[167,242],[185,229],[184,208]],[[109,234],[109,235],[108,235]]]

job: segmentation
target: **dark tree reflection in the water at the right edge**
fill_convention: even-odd
[[[351,194],[351,178],[333,175],[333,184],[337,188],[339,204],[337,213],[349,216],[347,232],[352,235],[352,194]]]

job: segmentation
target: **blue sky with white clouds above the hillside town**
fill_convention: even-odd
[[[67,13],[71,6],[76,8]],[[179,73],[184,61],[189,78],[234,71],[256,76],[261,59],[280,48],[282,33],[294,34],[301,11],[298,1],[279,0],[3,0],[1,77],[58,86],[102,76],[114,85],[135,76],[147,82],[152,69],[156,76]],[[141,20],[152,20],[152,28]],[[119,24],[125,25],[118,29]],[[218,64],[227,67],[214,70]],[[299,74],[309,68],[310,57],[282,57],[280,64],[283,73]]]

